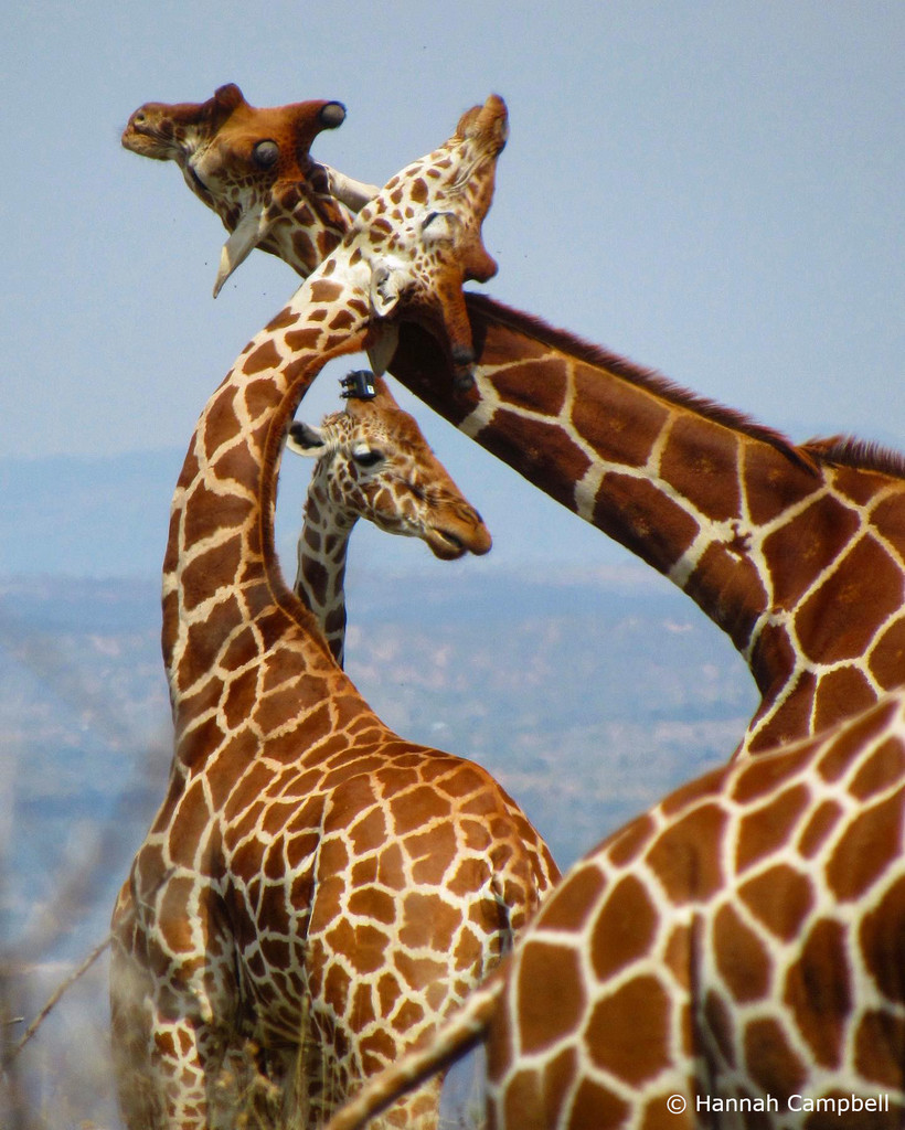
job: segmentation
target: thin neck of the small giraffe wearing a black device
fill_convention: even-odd
[[[337,512],[315,477],[298,536],[295,592],[314,615],[340,667],[346,644],[346,558],[355,522]]]

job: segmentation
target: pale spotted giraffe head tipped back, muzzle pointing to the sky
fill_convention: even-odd
[[[486,282],[497,270],[481,224],[506,136],[506,105],[490,95],[440,149],[389,181],[346,237],[353,260],[357,251],[371,266],[373,312],[383,319],[398,307],[425,323],[449,349],[462,386],[471,384],[475,359],[462,284]],[[392,353],[382,348],[389,362]]]

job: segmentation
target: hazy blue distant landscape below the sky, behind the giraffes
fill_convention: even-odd
[[[148,560],[163,554],[159,496],[175,469],[157,463],[119,466],[119,484],[96,492],[96,467],[84,484],[47,467],[59,534],[46,513],[29,525],[15,476],[0,481],[0,945],[3,1007],[24,1023],[105,936],[163,796],[172,739]],[[289,573],[297,506],[281,548]],[[381,538],[368,557],[365,532],[349,583],[351,678],[398,732],[489,768],[564,868],[739,740],[755,704],[741,660],[642,566],[543,554],[519,570],[494,554],[438,566],[421,546],[391,546],[401,539]],[[122,575],[78,575],[87,544],[96,553],[105,537]],[[36,1124],[115,1125],[96,1054],[105,976],[101,963],[23,1053],[47,1112]]]

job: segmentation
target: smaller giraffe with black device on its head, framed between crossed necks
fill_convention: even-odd
[[[382,377],[345,379],[345,411],[320,428],[294,423],[287,450],[316,459],[298,538],[296,596],[317,618],[342,667],[346,638],[346,556],[359,518],[389,533],[419,537],[435,557],[486,554],[490,534],[430,450],[415,419],[397,405]]]

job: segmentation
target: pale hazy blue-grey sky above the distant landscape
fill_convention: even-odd
[[[905,449],[900,0],[34,0],[5,25],[0,454],[184,447],[296,288],[256,254],[215,302],[219,220],[120,147],[140,103],[227,81],[342,101],[314,154],[377,183],[502,94],[485,290],[793,438]],[[517,497],[426,429],[479,505]]]

